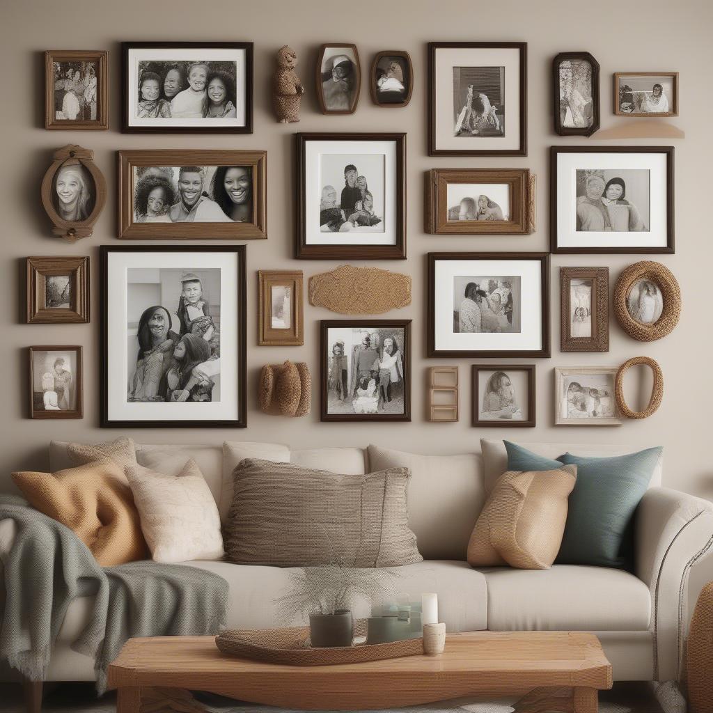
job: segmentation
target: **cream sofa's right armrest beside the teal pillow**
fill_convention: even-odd
[[[691,618],[692,568],[709,569],[696,582],[713,580],[713,504],[671,488],[650,488],[642,498],[636,522],[636,575],[651,591],[654,679],[682,677],[684,641]],[[696,585],[699,587],[699,585]]]

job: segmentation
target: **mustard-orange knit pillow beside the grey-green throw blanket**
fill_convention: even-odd
[[[148,558],[131,488],[108,458],[57,473],[13,473],[12,479],[31,506],[73,530],[102,567]]]

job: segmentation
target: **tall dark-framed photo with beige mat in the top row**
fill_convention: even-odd
[[[429,42],[429,155],[526,156],[526,42]]]

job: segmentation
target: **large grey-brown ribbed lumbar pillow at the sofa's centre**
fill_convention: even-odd
[[[395,567],[421,562],[406,508],[408,468],[360,476],[245,458],[224,530],[232,562]]]

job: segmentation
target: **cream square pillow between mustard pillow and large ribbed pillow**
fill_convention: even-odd
[[[178,475],[139,465],[128,466],[125,473],[156,562],[222,559],[218,509],[193,459]]]

